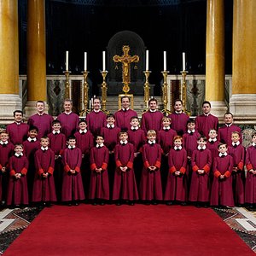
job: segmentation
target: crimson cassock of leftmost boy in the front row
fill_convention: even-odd
[[[28,160],[26,156],[17,157],[13,155],[9,159],[9,186],[7,193],[7,205],[27,205],[28,192],[26,183],[26,172]],[[16,173],[21,173],[20,178],[15,178]]]

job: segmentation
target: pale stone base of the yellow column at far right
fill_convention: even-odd
[[[254,125],[256,94],[233,94],[230,97],[230,112],[234,114],[236,124]]]

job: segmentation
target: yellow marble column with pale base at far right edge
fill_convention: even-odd
[[[255,0],[234,0],[230,111],[242,124],[255,124],[256,121],[255,9]]]

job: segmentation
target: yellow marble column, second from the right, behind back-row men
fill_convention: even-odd
[[[224,103],[224,1],[207,0],[206,101],[212,113],[222,119]]]

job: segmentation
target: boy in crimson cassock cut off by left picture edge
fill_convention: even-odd
[[[14,154],[15,147],[9,142],[8,133],[0,132],[0,204],[6,203],[7,185],[9,181],[9,158]]]

